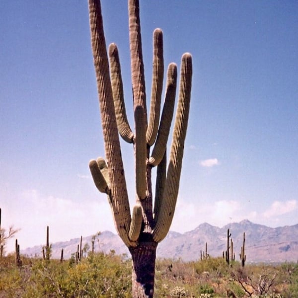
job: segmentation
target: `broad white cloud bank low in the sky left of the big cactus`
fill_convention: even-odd
[[[21,249],[43,244],[47,225],[51,243],[103,230],[116,233],[106,198],[77,202],[27,190],[19,195],[18,201],[20,204],[13,210],[3,206],[2,216],[5,216],[5,227],[13,224],[21,229],[16,235]],[[13,250],[13,241],[7,243],[7,251]]]

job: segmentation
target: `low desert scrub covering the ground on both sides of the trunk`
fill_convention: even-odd
[[[131,260],[89,253],[80,262],[14,254],[0,258],[0,298],[130,298]],[[157,260],[157,298],[298,297],[298,264],[227,264],[223,258],[196,262]]]

